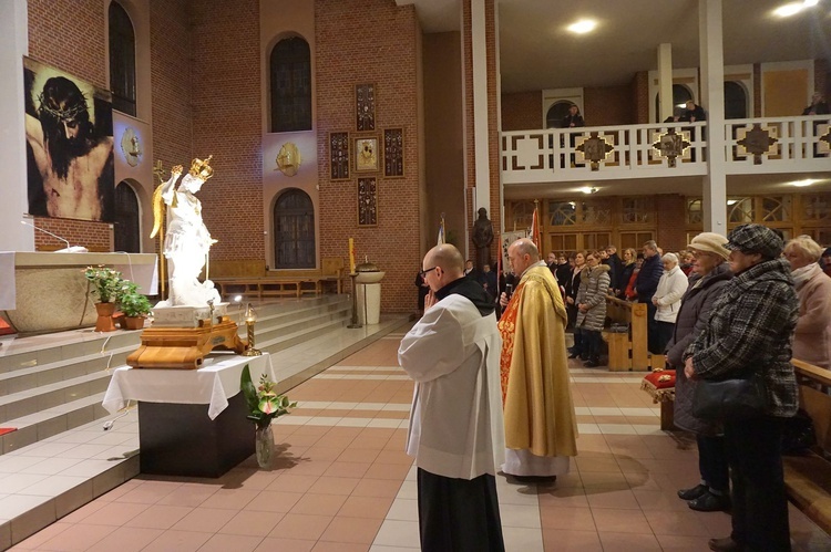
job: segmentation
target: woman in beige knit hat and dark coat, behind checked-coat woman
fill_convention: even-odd
[[[712,512],[730,506],[730,473],[721,425],[693,416],[693,395],[696,383],[684,375],[684,351],[700,334],[710,320],[712,303],[732,278],[725,248],[727,239],[715,232],[701,232],[688,248],[693,251],[693,274],[689,289],[681,300],[673,337],[667,344],[667,363],[676,371],[675,425],[696,435],[698,470],[701,481],[678,491],[693,510]]]

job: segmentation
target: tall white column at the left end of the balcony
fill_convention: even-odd
[[[491,169],[488,152],[488,44],[485,43],[485,2],[471,0],[471,48],[473,51],[473,157],[476,170],[476,212],[491,215]]]

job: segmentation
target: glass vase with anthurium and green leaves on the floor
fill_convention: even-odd
[[[256,426],[254,444],[257,464],[260,468],[268,468],[271,465],[274,454],[271,420],[289,414],[290,408],[297,407],[297,403],[290,403],[286,395],[278,395],[275,386],[276,384],[263,374],[259,377],[259,386],[255,387],[248,365],[246,364],[243,368],[239,388],[248,406],[247,418]]]

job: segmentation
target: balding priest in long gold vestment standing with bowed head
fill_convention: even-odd
[[[507,249],[520,283],[505,308],[502,334],[502,396],[505,464],[502,471],[523,478],[554,479],[577,456],[577,423],[565,348],[566,313],[551,270],[529,239]]]

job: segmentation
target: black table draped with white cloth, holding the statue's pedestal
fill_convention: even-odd
[[[239,390],[246,365],[255,385],[263,374],[276,381],[267,353],[212,353],[199,369],[113,372],[102,405],[115,414],[138,402],[142,473],[219,477],[254,454],[254,423]]]

